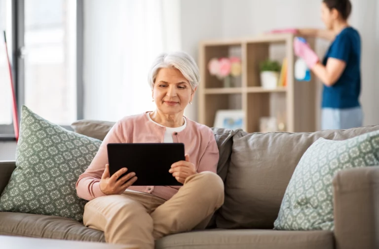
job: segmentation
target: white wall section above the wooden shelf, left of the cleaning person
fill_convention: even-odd
[[[255,36],[271,29],[321,27],[319,1],[224,0],[224,37]],[[306,10],[314,10],[310,15]]]

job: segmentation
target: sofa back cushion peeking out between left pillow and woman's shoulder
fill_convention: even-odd
[[[103,141],[115,122],[82,119],[71,124],[76,133]]]

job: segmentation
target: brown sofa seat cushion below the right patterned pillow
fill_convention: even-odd
[[[169,235],[155,249],[334,249],[330,231],[208,230]]]

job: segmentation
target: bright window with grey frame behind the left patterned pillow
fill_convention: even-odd
[[[1,37],[6,30],[18,108],[26,105],[66,128],[82,118],[82,60],[77,53],[82,50],[82,4],[82,0],[0,0]],[[1,42],[0,134],[13,133],[9,82]]]

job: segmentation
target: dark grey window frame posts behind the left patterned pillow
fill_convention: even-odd
[[[15,87],[18,119],[21,121],[21,107],[25,104],[25,64],[23,59],[25,11],[24,0],[11,0],[12,9],[12,50],[9,51]],[[83,119],[83,0],[76,0],[76,119]],[[71,126],[62,126],[73,130]],[[13,121],[0,124],[0,141],[15,141]]]

